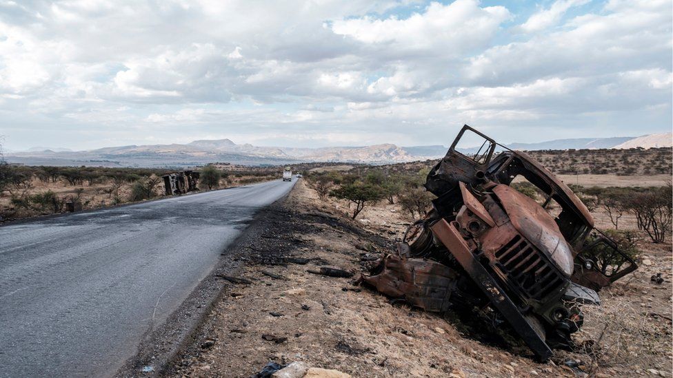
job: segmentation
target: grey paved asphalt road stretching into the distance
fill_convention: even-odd
[[[0,377],[114,374],[294,182],[0,227]]]

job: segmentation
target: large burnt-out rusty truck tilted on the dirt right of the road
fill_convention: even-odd
[[[473,140],[478,147],[461,147]],[[361,280],[427,311],[486,313],[541,360],[572,349],[581,306],[599,305],[597,291],[637,267],[554,174],[468,125],[425,188],[436,196],[432,210]]]

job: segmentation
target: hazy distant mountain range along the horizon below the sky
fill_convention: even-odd
[[[673,134],[639,137],[576,138],[541,143],[512,143],[519,150],[599,149],[635,147],[671,147]],[[32,148],[7,153],[8,162],[26,165],[94,165],[106,167],[192,167],[209,162],[239,165],[284,165],[297,162],[363,162],[384,164],[441,158],[448,147],[443,145],[399,147],[392,144],[364,147],[259,147],[237,145],[229,139],[194,140],[185,145],[129,145],[104,147],[90,151]]]

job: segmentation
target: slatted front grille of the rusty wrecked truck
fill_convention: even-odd
[[[511,283],[519,286],[525,297],[542,300],[565,283],[559,271],[541,251],[521,238],[521,235],[516,235],[496,251],[495,257],[496,266]]]

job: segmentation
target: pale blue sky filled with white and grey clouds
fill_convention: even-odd
[[[670,0],[0,0],[3,148],[673,127]]]

